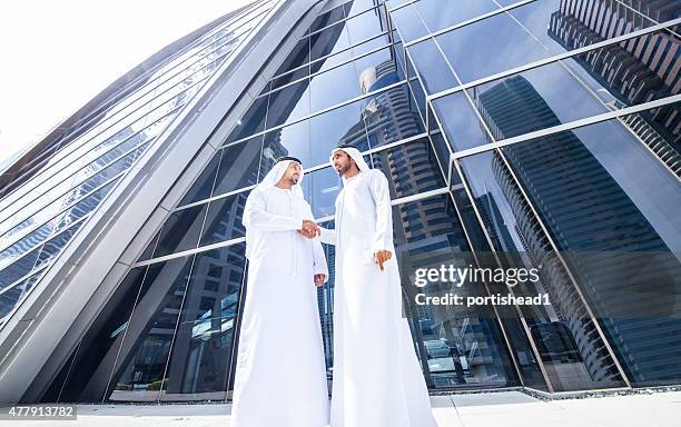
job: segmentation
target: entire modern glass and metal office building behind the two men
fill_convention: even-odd
[[[432,391],[680,384],[680,14],[259,0],[172,42],[1,171],[0,401],[229,400],[248,193],[296,156],[333,227],[339,143],[388,178]],[[540,280],[457,292],[551,304],[415,304],[417,269],[491,264]]]

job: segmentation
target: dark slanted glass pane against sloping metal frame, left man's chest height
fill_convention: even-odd
[[[208,203],[203,203],[170,214],[161,228],[154,258],[196,248],[207,208]]]

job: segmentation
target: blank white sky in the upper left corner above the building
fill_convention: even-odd
[[[251,1],[1,1],[0,166],[152,53]]]

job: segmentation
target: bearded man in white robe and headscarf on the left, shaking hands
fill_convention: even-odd
[[[234,384],[233,427],[328,425],[316,286],[328,276],[303,198],[300,162],[280,159],[244,209],[248,281]]]

